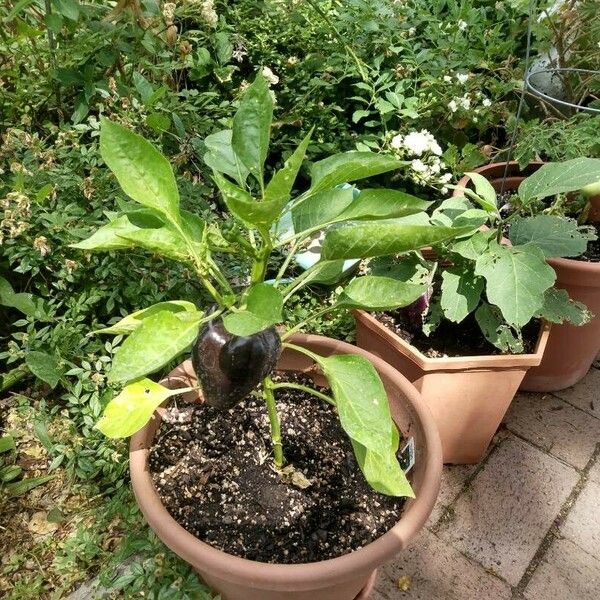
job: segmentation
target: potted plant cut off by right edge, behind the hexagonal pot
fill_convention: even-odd
[[[534,235],[532,225],[553,222],[565,232],[574,231],[576,223],[587,225],[586,239],[578,236],[564,248],[543,244],[542,249],[556,272],[556,287],[588,307],[589,322],[554,325],[542,362],[527,372],[521,389],[552,392],[575,385],[600,352],[600,160],[532,162],[524,169],[517,162],[494,163],[476,171],[511,196],[507,206],[512,214],[531,217],[519,218],[519,226],[507,231],[513,243]],[[468,178],[459,182],[467,184]]]

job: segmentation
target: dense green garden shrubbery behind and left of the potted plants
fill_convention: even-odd
[[[439,199],[451,179],[506,156],[528,5],[3,3],[0,427],[16,442],[3,456],[19,476],[52,479],[15,497],[0,491],[0,595],[60,598],[100,575],[125,596],[210,597],[143,523],[129,491],[125,442],[94,429],[113,395],[105,373],[120,339],[88,333],[161,300],[207,302],[190,273],[159,257],[69,248],[126,202],[99,155],[99,117],[161,147],[184,208],[222,221],[203,139],[230,126],[260,70],[276,99],[278,162],[270,169],[314,127],[311,161],[352,149],[393,152],[413,161],[394,184]],[[555,33],[536,20],[534,54],[547,52]],[[596,59],[588,47],[578,60],[589,66]],[[600,156],[598,117],[556,116],[527,98],[518,160]],[[246,276],[234,262],[224,268]],[[288,320],[302,320],[331,293],[312,290]],[[353,324],[334,316],[317,331],[350,339]],[[116,569],[123,563],[129,566]]]

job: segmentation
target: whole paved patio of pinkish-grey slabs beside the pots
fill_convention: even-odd
[[[520,393],[482,463],[444,468],[371,600],[400,598],[600,598],[600,360],[573,388]]]

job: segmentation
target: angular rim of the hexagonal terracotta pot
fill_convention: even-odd
[[[363,310],[355,310],[355,317],[375,334],[384,338],[395,350],[407,356],[423,371],[465,371],[477,369],[510,369],[514,367],[532,367],[540,364],[548,336],[550,335],[551,323],[543,321],[540,325],[540,333],[531,354],[485,354],[482,356],[448,356],[445,358],[431,358],[425,356],[418,348],[403,340],[399,335],[390,331],[380,323],[373,315]]]

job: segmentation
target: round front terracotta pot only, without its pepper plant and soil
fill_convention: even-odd
[[[160,425],[159,409],[130,446],[131,482],[138,504],[160,539],[192,565],[223,600],[352,600],[368,597],[375,570],[398,552],[423,527],[437,498],[442,450],[435,423],[415,387],[391,366],[368,352],[329,338],[296,334],[293,343],[315,353],[359,354],[371,360],[379,372],[394,421],[403,436],[415,441],[416,462],[410,479],[416,499],[408,500],[398,523],[373,543],[339,558],[316,563],[281,565],[232,556],[205,544],[181,527],[167,512],[152,484],[148,449]],[[323,382],[312,361],[285,349],[279,370],[303,371]],[[170,387],[195,382],[191,362],[186,361],[164,380]],[[196,396],[196,399],[198,397]]]

